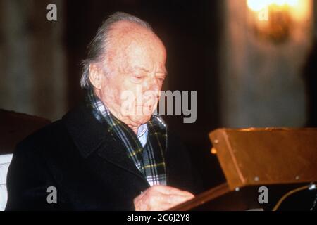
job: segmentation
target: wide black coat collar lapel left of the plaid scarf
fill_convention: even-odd
[[[97,151],[101,158],[147,181],[128,158],[123,143],[92,115],[85,101],[70,110],[62,121],[83,158]]]

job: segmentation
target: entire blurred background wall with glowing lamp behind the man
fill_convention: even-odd
[[[48,4],[57,21],[49,21]],[[165,90],[197,91],[197,121],[165,117],[189,147],[205,188],[224,181],[209,132],[316,127],[312,0],[0,0],[0,108],[58,120],[82,98],[80,63],[101,22],[148,21],[168,51]],[[0,124],[1,126],[1,124]]]

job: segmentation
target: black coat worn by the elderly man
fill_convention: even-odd
[[[168,186],[197,193],[185,147],[168,134]],[[47,203],[56,187],[57,204]],[[8,170],[6,210],[135,210],[149,188],[125,152],[84,104],[18,144]]]

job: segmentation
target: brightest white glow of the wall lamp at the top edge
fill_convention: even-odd
[[[252,11],[261,11],[271,5],[296,7],[299,0],[247,0],[247,5]]]

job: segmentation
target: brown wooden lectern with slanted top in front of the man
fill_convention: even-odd
[[[171,210],[272,210],[288,191],[317,181],[317,129],[217,129],[209,137],[227,182]],[[261,186],[271,205],[259,202]],[[309,195],[308,207],[317,197]]]

